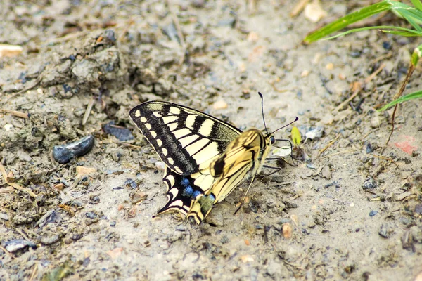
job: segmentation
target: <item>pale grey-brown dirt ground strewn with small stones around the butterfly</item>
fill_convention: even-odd
[[[1,177],[0,280],[416,280],[422,103],[399,106],[387,146],[392,110],[376,108],[420,41],[374,30],[301,44],[354,3],[321,1],[314,23],[290,18],[293,1],[1,1],[0,42],[23,53],[0,58],[15,186]],[[421,68],[406,93],[420,81]],[[258,178],[236,215],[247,182],[200,225],[152,218],[162,165],[129,110],[167,100],[264,129],[257,91],[269,129],[299,117],[307,158]],[[87,155],[53,159],[88,135]]]

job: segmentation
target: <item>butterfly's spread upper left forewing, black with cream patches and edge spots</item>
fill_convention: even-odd
[[[211,115],[168,102],[141,103],[129,116],[162,162],[186,176],[208,169],[241,133]]]

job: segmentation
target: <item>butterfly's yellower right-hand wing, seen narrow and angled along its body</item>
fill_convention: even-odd
[[[210,213],[212,205],[224,200],[248,173],[252,176],[252,184],[271,148],[270,137],[250,129],[232,141],[210,165],[210,174],[217,180],[205,195],[196,197],[187,216],[200,223]]]

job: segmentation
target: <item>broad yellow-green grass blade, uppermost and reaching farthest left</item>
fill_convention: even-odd
[[[389,1],[389,2],[395,2],[395,1]],[[349,15],[345,15],[343,18],[339,18],[338,20],[331,22],[330,24],[322,27],[321,29],[316,30],[315,32],[312,32],[305,38],[304,42],[305,43],[314,42],[316,40],[321,39],[322,37],[326,37],[328,34],[331,34],[335,31],[343,29],[344,27],[347,27],[347,25],[350,25],[353,22],[363,20],[364,18],[369,18],[371,15],[376,15],[377,13],[381,13],[383,11],[388,11],[392,5],[389,2],[383,1],[377,4],[373,4],[371,6],[368,6],[368,7],[362,8],[359,11],[350,13]]]

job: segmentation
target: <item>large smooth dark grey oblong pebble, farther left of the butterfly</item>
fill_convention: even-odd
[[[60,164],[69,163],[71,159],[86,155],[94,147],[94,137],[89,135],[73,143],[53,147],[53,158]]]

